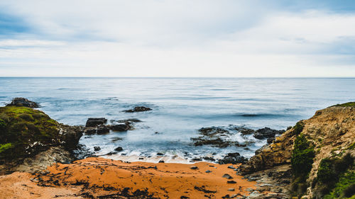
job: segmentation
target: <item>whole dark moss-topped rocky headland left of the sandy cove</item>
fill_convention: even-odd
[[[0,173],[21,165],[39,168],[40,164],[71,161],[72,150],[82,137],[82,127],[60,124],[26,106],[0,107],[0,132]]]

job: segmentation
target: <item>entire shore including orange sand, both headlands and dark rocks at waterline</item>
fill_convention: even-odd
[[[354,198],[355,103],[318,110],[287,131],[204,127],[198,147],[244,147],[267,140],[251,159],[239,153],[195,164],[90,157],[82,135],[134,130],[140,120],[89,118],[82,126],[52,120],[26,98],[0,108],[0,198]],[[136,107],[126,112],[148,111]],[[246,142],[229,139],[234,132]],[[253,138],[253,139],[249,139]],[[266,142],[266,141],[264,141]],[[99,151],[100,147],[94,147]],[[115,152],[121,152],[116,147]],[[163,154],[160,154],[163,155]],[[86,157],[84,159],[84,157]]]

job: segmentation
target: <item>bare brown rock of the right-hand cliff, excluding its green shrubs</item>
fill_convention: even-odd
[[[317,178],[322,159],[341,158],[345,154],[355,157],[355,150],[351,147],[355,143],[355,107],[332,106],[318,110],[312,118],[302,120],[302,123],[304,126],[300,132],[297,132],[296,125],[280,137],[276,137],[272,144],[258,149],[256,155],[240,167],[241,174],[251,174],[278,165],[290,164],[293,143],[300,133],[305,135],[315,149],[315,158],[307,184],[311,184]],[[307,197],[312,198],[313,192],[313,188],[308,187]]]

